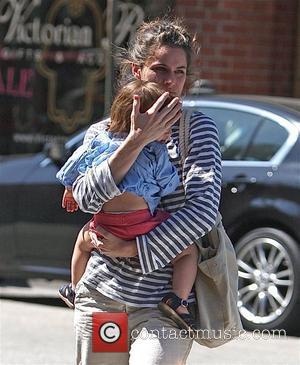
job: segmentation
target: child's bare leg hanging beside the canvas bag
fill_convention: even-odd
[[[181,254],[176,256],[172,261],[173,264],[173,291],[184,300],[188,296],[194,285],[197,268],[198,268],[198,249],[195,244],[192,244]],[[188,313],[187,308],[180,306],[176,310],[178,313]]]

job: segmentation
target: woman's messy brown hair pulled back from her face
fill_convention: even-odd
[[[156,49],[162,46],[181,48],[187,58],[187,76],[191,75],[192,55],[198,52],[195,36],[191,35],[182,21],[175,19],[156,19],[144,22],[137,30],[128,49],[122,49],[117,58],[120,63],[121,84],[133,78],[131,65],[143,67],[153,56]]]

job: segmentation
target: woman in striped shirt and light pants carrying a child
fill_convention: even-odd
[[[121,194],[117,184],[144,146],[172,128],[169,156],[179,176],[184,172],[184,181],[175,193],[162,199],[160,206],[171,217],[132,241],[124,241],[98,227],[103,237],[99,252],[92,254],[76,287],[78,364],[185,364],[190,352],[191,339],[177,336],[174,340],[174,336],[168,336],[179,329],[162,315],[157,304],[171,291],[171,261],[212,229],[220,199],[220,149],[211,119],[201,113],[192,115],[189,154],[184,166],[180,159],[180,96],[190,73],[193,49],[193,37],[177,20],[158,19],[139,28],[124,56],[122,75],[128,75],[130,69],[134,78],[156,82],[166,92],[146,113],[140,113],[139,98],[135,97],[131,130],[125,142],[107,161],[80,175],[73,185],[80,209],[99,212],[103,204]],[[173,102],[163,107],[169,96]],[[85,142],[103,128],[105,123],[90,127]],[[188,302],[192,306],[194,301],[191,293]],[[127,312],[131,334],[143,330],[143,336],[132,338],[129,353],[93,353],[92,312]],[[155,336],[146,336],[145,332]]]

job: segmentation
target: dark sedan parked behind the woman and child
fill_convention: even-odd
[[[290,329],[300,309],[300,100],[191,96],[184,107],[218,126],[220,210],[237,252],[244,324]],[[63,150],[52,145],[0,162],[0,277],[69,277],[73,243],[89,216],[61,208],[55,174],[83,136]]]

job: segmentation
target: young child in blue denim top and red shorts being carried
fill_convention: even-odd
[[[100,132],[88,145],[80,146],[57,173],[57,178],[65,186],[63,208],[68,212],[78,209],[72,195],[72,184],[76,178],[108,159],[128,135],[134,95],[139,96],[140,112],[144,113],[163,92],[157,84],[141,80],[132,81],[120,89],[111,107],[107,130]],[[161,197],[174,192],[179,185],[176,168],[169,161],[165,144],[169,138],[170,133],[165,134],[160,141],[151,142],[143,148],[118,184],[122,194],[105,203],[80,231],[72,256],[72,282],[59,290],[60,297],[69,307],[74,308],[75,286],[85,271],[91,251],[95,249],[92,239],[95,240],[93,235],[98,225],[124,240],[132,240],[151,231],[170,216],[166,211],[157,210]],[[172,261],[173,293],[166,295],[158,304],[161,311],[184,329],[195,328],[187,299],[195,281],[197,262],[195,245],[189,246]]]

